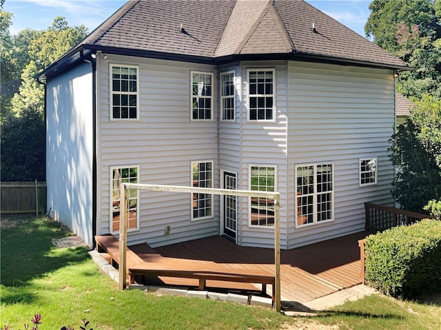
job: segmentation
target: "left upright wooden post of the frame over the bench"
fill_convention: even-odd
[[[127,190],[121,183],[119,196],[119,288],[125,289],[127,277]]]

